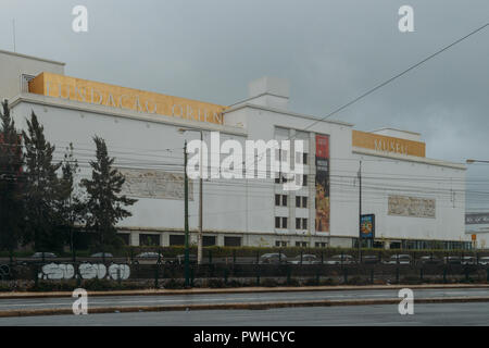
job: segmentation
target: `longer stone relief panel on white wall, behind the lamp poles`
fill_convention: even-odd
[[[171,173],[162,170],[118,169],[124,175],[122,194],[154,199],[184,200],[184,173]],[[193,200],[193,183],[188,181],[188,199]]]

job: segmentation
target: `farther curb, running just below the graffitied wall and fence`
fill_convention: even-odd
[[[88,296],[165,296],[165,295],[209,295],[209,294],[249,294],[249,293],[300,293],[300,291],[338,291],[338,290],[397,290],[409,287],[411,289],[440,289],[440,288],[487,288],[489,284],[425,284],[425,285],[340,285],[340,286],[305,286],[305,287],[237,287],[237,288],[193,288],[193,289],[149,289],[149,290],[116,290],[116,291],[88,291]],[[71,291],[55,293],[0,293],[2,299],[23,298],[60,298],[72,297]]]

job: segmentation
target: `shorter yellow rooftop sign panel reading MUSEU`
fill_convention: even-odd
[[[352,146],[384,153],[398,153],[416,157],[426,156],[426,145],[424,142],[360,130],[352,132]]]

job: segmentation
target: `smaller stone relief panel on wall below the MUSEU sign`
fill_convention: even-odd
[[[435,219],[436,200],[419,197],[389,196],[388,214],[393,216]]]

